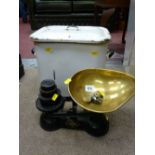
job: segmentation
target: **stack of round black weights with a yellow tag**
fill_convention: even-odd
[[[42,112],[57,112],[62,109],[64,99],[53,80],[43,80],[37,99],[37,108]]]

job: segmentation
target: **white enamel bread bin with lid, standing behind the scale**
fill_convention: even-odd
[[[46,26],[30,36],[35,44],[40,81],[54,79],[62,95],[64,81],[86,68],[103,68],[109,31],[95,26]]]

